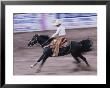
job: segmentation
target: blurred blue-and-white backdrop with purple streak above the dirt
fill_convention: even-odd
[[[55,19],[60,19],[66,29],[96,27],[96,18],[96,13],[15,13],[14,32],[55,30]]]

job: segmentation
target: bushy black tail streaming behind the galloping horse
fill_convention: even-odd
[[[88,39],[82,40],[79,42],[81,45],[81,51],[82,52],[88,52],[92,50],[93,41]]]

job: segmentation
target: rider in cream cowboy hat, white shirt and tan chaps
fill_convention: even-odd
[[[59,48],[62,44],[64,44],[66,40],[66,31],[65,27],[61,25],[61,21],[59,19],[55,20],[54,25],[57,27],[56,32],[51,36],[55,39],[52,41],[52,44],[54,45],[53,49],[53,55],[52,56],[58,56]]]

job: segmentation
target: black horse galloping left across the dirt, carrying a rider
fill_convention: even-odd
[[[41,68],[43,67],[47,58],[53,57],[52,48],[51,48],[51,45],[49,45],[53,39],[55,38],[50,38],[48,35],[35,34],[28,43],[28,47],[32,47],[35,44],[40,44],[40,46],[43,48],[43,53],[40,56],[40,58],[37,60],[35,64],[31,65],[31,68],[33,68],[40,61],[42,61],[41,64],[39,65],[39,68],[37,69],[37,72],[41,71]],[[92,45],[93,45],[93,42],[89,38],[85,40],[81,40],[79,42],[70,41],[68,45],[60,47],[58,56],[71,54],[72,57],[76,60],[77,64],[79,64],[81,62],[80,59],[82,59],[85,62],[85,64],[88,67],[90,67],[90,64],[82,54],[88,51],[91,51]]]

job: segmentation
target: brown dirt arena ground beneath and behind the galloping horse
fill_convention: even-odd
[[[97,29],[83,28],[66,30],[70,40],[80,41],[91,38],[93,50],[85,53],[84,56],[91,65],[88,68],[85,63],[80,66],[73,63],[75,60],[69,54],[61,57],[49,57],[40,73],[36,73],[38,65],[30,68],[42,54],[43,49],[39,45],[28,47],[29,40],[35,33],[52,35],[55,31],[14,33],[14,75],[97,75]]]

